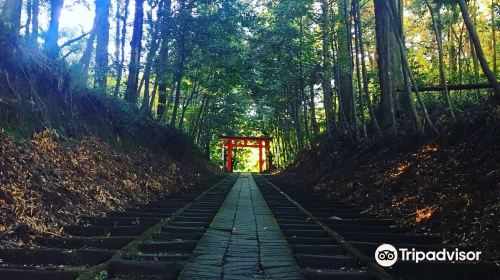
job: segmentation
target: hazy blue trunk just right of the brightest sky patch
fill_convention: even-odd
[[[109,0],[96,0],[96,49],[95,49],[95,82],[97,92],[106,93],[108,85],[108,44],[109,44]]]

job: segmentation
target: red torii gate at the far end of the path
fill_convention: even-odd
[[[270,137],[234,137],[219,136],[222,141],[222,149],[227,148],[226,168],[228,172],[233,172],[233,148],[259,148],[259,172],[263,171],[262,149],[266,149],[266,167],[269,168],[270,144],[273,139]]]

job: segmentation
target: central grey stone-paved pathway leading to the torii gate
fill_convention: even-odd
[[[250,174],[241,174],[179,279],[302,279]]]

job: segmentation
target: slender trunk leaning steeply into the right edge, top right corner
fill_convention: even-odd
[[[495,74],[491,71],[490,67],[488,66],[488,62],[486,61],[486,58],[484,56],[483,48],[481,47],[481,42],[479,41],[476,29],[470,18],[467,4],[465,4],[464,0],[456,0],[456,1],[460,6],[460,11],[462,12],[462,17],[464,19],[465,26],[467,27],[467,30],[469,32],[470,40],[474,44],[474,50],[476,51],[477,58],[479,60],[479,63],[481,64],[481,68],[483,69],[483,72],[486,75],[488,82],[493,87],[493,92],[495,93],[495,99],[497,103],[500,103],[500,85],[498,84]]]

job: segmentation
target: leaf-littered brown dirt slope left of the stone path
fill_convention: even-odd
[[[0,246],[27,243],[34,233],[59,235],[81,215],[123,209],[207,175],[165,153],[57,138],[46,130],[19,143],[0,132]]]

